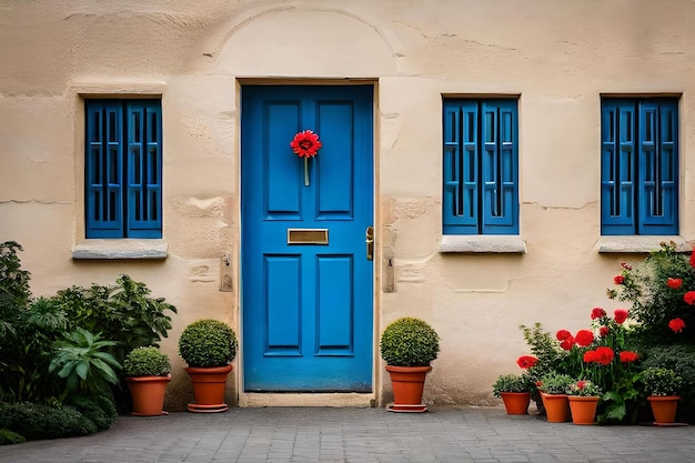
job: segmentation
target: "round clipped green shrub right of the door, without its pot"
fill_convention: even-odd
[[[381,334],[381,356],[392,366],[426,366],[437,358],[440,336],[425,321],[402,318]]]

